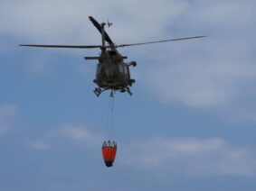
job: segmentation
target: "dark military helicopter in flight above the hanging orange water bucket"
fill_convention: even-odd
[[[105,26],[109,27],[112,23],[98,23],[92,16],[89,16],[90,22],[98,29],[101,34],[101,45],[42,45],[42,44],[20,44],[20,46],[25,47],[42,47],[42,48],[69,48],[69,49],[96,49],[100,48],[100,56],[96,57],[84,57],[84,59],[98,59],[99,63],[97,65],[96,78],[93,80],[98,86],[95,87],[94,93],[96,96],[100,96],[103,91],[111,90],[111,95],[113,92],[127,92],[132,96],[130,91],[130,86],[135,83],[135,79],[130,77],[129,68],[136,67],[136,61],[125,62],[124,59],[128,59],[127,56],[122,56],[117,48],[135,46],[135,45],[144,45],[152,44],[166,41],[183,41],[189,39],[198,39],[205,36],[194,36],[194,37],[185,37],[179,39],[171,39],[164,41],[147,41],[140,43],[131,43],[131,44],[119,44],[116,45],[109,37],[109,34],[105,31]],[[106,45],[106,41],[108,44]]]

